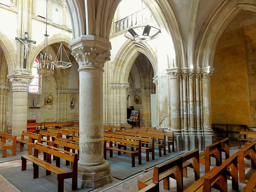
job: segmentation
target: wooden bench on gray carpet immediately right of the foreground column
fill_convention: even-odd
[[[132,158],[132,167],[135,167],[135,157],[138,156],[138,164],[141,164],[141,140],[128,140],[111,137],[109,142],[109,147],[107,147],[107,142],[104,137],[104,159],[107,160],[106,150],[109,150],[109,157],[113,157],[113,150],[118,151],[118,155],[121,155],[121,152],[131,154]],[[118,148],[113,148],[113,144],[117,144]],[[121,147],[133,147],[138,148],[138,151],[125,150],[121,149]]]

